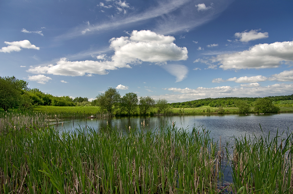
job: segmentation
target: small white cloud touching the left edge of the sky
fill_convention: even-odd
[[[28,40],[21,40],[21,41],[15,41],[15,42],[4,42],[6,45],[9,45],[7,47],[2,47],[0,49],[0,52],[8,52],[10,53],[11,51],[21,51],[21,48],[27,48],[27,49],[36,49],[40,50],[40,47],[36,47],[35,45],[32,45],[30,41]]]

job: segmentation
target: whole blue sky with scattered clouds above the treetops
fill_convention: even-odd
[[[2,0],[0,76],[53,96],[293,93],[293,1]]]

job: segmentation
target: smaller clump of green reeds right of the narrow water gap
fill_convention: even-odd
[[[293,135],[234,138],[233,190],[238,193],[293,193]]]

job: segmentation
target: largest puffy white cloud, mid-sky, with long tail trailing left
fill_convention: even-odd
[[[159,35],[150,30],[132,31],[130,37],[112,38],[110,48],[115,51],[109,60],[74,61],[61,58],[56,65],[33,67],[28,70],[32,73],[54,74],[65,76],[84,76],[86,74],[108,74],[108,70],[126,67],[130,64],[142,62],[165,63],[167,61],[186,60],[188,51],[186,47],[178,47],[173,43],[173,36]],[[97,59],[104,59],[99,55]],[[170,66],[172,67],[172,66]],[[184,79],[183,74],[176,74],[178,80]]]

